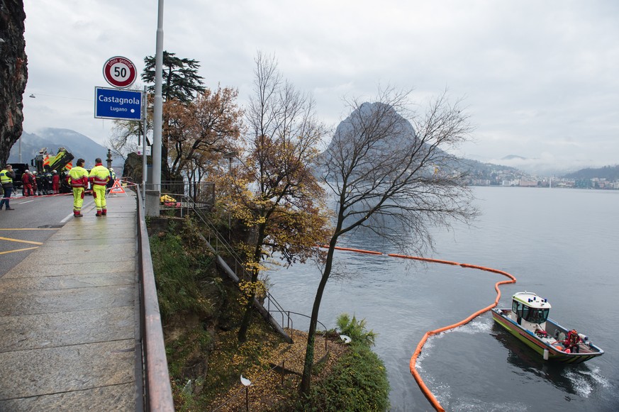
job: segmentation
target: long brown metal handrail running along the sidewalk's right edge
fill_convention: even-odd
[[[138,199],[138,253],[140,276],[140,338],[142,340],[144,407],[146,411],[174,411],[163,329],[152,269],[141,192]]]

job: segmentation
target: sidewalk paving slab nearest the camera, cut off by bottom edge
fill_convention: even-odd
[[[133,384],[0,401],[0,411],[135,411]],[[101,399],[93,408],[93,399]],[[100,409],[99,409],[100,408]]]

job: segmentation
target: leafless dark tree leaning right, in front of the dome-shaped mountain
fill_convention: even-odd
[[[336,202],[335,227],[311,314],[301,392],[308,394],[314,333],[323,291],[340,236],[366,228],[401,251],[433,247],[430,228],[469,221],[477,214],[457,157],[448,150],[468,138],[472,126],[446,93],[425,113],[411,111],[410,92],[385,89],[375,103],[350,101],[352,113],[337,130],[320,167]]]

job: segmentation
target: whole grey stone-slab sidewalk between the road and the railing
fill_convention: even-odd
[[[0,278],[0,411],[143,410],[137,206],[107,202]]]

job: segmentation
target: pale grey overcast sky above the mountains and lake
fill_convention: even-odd
[[[94,87],[109,87],[108,58],[141,74],[155,55],[157,0],[25,6],[24,130],[104,144],[112,122],[94,118]],[[168,0],[163,30],[164,50],[199,60],[206,87],[238,88],[241,104],[260,50],[330,126],[348,114],[342,97],[369,99],[379,84],[414,89],[420,104],[448,89],[476,125],[462,155],[619,163],[619,1]]]

